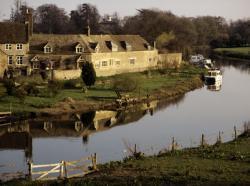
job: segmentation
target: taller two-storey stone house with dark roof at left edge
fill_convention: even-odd
[[[27,24],[0,23],[0,77],[10,71],[17,75],[28,74],[27,30]]]

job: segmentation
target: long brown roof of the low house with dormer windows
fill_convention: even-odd
[[[118,52],[126,51],[124,43],[131,45],[131,51],[148,50],[149,43],[139,35],[59,35],[59,34],[33,34],[30,39],[30,53],[44,53],[44,46],[48,44],[53,47],[52,54],[75,54],[78,44],[84,48],[84,53],[94,53],[98,45],[100,53],[111,52],[107,43],[118,47]],[[47,55],[52,55],[47,54]]]

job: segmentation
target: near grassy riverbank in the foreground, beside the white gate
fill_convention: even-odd
[[[236,140],[211,146],[162,151],[145,157],[141,152],[123,161],[99,165],[84,178],[6,185],[249,185],[250,131]]]

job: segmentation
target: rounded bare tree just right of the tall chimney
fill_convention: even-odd
[[[62,8],[54,4],[45,4],[36,9],[36,32],[64,34],[68,32],[69,17]]]

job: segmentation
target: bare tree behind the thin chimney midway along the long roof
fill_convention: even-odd
[[[70,13],[70,32],[87,34],[89,26],[91,33],[98,34],[100,30],[100,17],[95,6],[91,4],[79,5],[77,10],[73,10]]]

